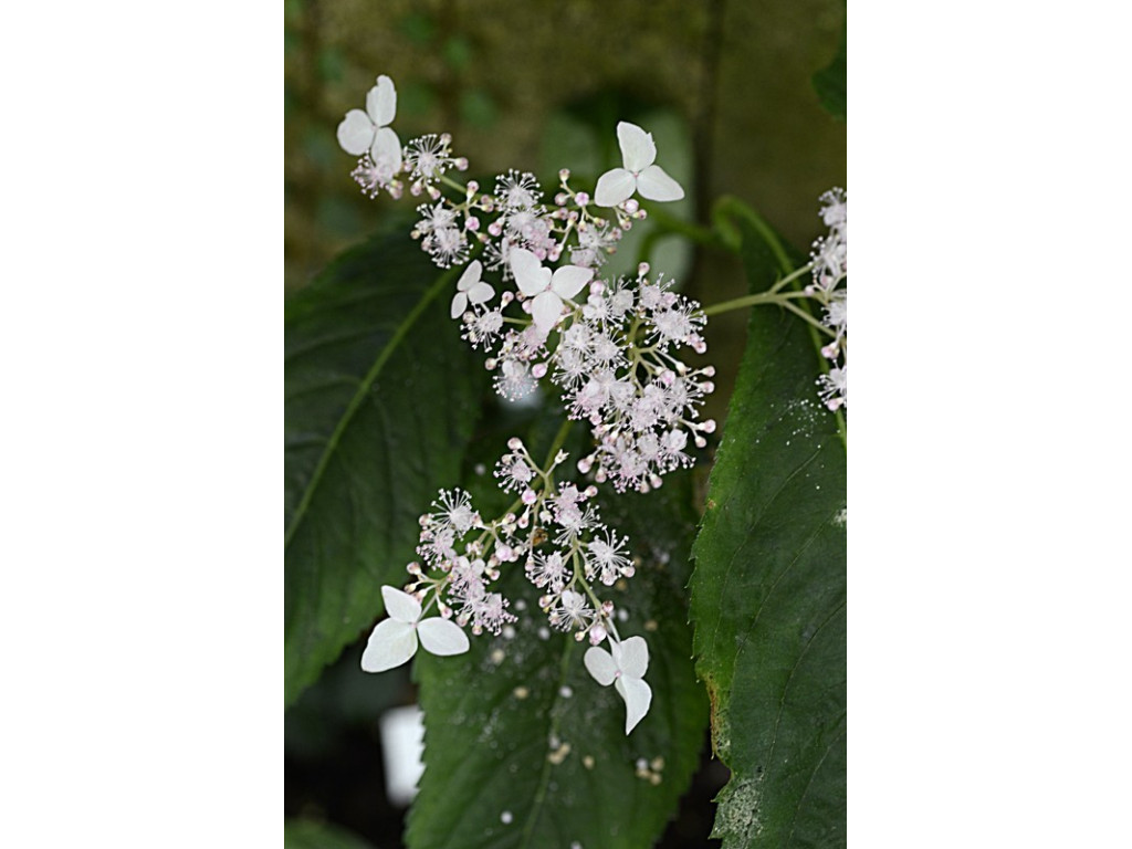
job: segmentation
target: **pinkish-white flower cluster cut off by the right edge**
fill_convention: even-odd
[[[833,334],[833,341],[822,349],[822,353],[831,361],[830,371],[817,379],[822,401],[832,411],[848,406],[848,205],[842,189],[831,189],[820,199],[821,217],[830,232],[814,242],[811,252],[814,282],[807,286],[807,291],[823,300],[825,314],[822,316],[822,324]]]

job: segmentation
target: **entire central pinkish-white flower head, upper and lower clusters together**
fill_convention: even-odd
[[[602,174],[592,196],[571,188],[564,169],[550,203],[526,172],[499,174],[490,192],[475,181],[453,180],[451,172],[466,170],[468,161],[454,155],[451,136],[402,146],[392,128],[396,103],[393,80],[378,77],[366,110],[350,110],[338,126],[338,143],[360,156],[351,175],[369,197],[386,191],[400,198],[406,186],[412,196],[427,197],[410,234],[438,266],[466,265],[451,315],[472,348],[490,354],[486,365],[499,394],[518,400],[549,375],[567,415],[592,427],[597,447],[578,470],[618,491],[648,491],[664,473],[689,465],[689,440],[704,447],[704,435],[714,430],[713,421],[698,420],[714,369],[677,358],[681,348],[706,350],[700,305],[671,291],[670,280],[650,280],[646,265],[635,280],[595,276],[623,234],[645,217],[634,195],[684,197],[657,164],[652,136],[618,123],[623,166]],[[484,272],[498,274],[495,285]],[[511,305],[513,315],[505,315]],[[600,684],[616,685],[628,734],[652,698],[643,680],[649,650],[642,637],[620,638],[612,602],[594,590],[633,576],[628,541],[602,524],[592,500],[597,487],[555,482],[565,454],[543,470],[517,438],[508,448],[495,474],[501,489],[517,495],[515,505],[483,522],[468,492],[440,491],[420,520],[420,561],[409,565],[413,582],[404,591],[383,588],[389,618],[370,635],[362,668],[404,663],[418,645],[461,653],[469,648],[465,628],[500,634],[516,617],[492,584],[507,564],[522,561],[550,626],[589,638],[585,667]],[[434,607],[439,615],[428,617]],[[606,641],[609,651],[600,648]]]

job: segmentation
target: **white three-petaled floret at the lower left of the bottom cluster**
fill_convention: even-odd
[[[468,635],[448,619],[434,616],[421,619],[421,603],[406,592],[381,588],[385,610],[389,618],[377,624],[361,655],[367,672],[384,672],[405,663],[417,653],[417,637],[432,654],[463,654]]]

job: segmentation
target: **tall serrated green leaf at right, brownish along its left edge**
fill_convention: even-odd
[[[763,291],[788,251],[737,217]],[[808,325],[755,307],[691,584],[712,743],[732,772],[724,849],[846,844],[846,447],[818,374]]]

